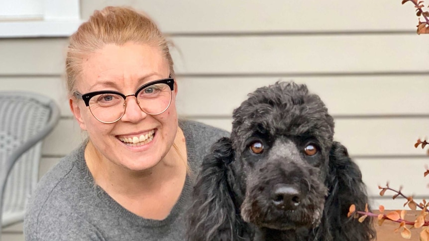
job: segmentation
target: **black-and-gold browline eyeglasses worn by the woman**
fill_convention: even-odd
[[[155,80],[137,89],[135,94],[124,95],[117,91],[95,91],[86,94],[74,92],[76,98],[83,99],[93,116],[105,124],[115,123],[125,114],[126,97],[135,96],[140,109],[149,115],[159,115],[170,107],[174,90],[174,79]]]

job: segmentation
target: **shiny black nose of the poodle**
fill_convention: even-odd
[[[294,210],[300,205],[301,193],[295,187],[281,185],[273,189],[271,200],[279,209]]]

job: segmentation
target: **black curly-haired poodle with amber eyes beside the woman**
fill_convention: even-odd
[[[368,203],[359,167],[333,141],[334,122],[305,85],[277,82],[233,113],[230,138],[212,147],[190,208],[191,241],[368,241],[347,218]]]

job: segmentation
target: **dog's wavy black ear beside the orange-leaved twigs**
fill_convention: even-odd
[[[333,240],[368,241],[375,238],[372,219],[359,223],[353,217],[347,218],[351,204],[357,210],[364,210],[368,204],[366,186],[357,164],[350,159],[347,149],[339,142],[333,142],[329,153],[327,175],[329,195],[326,198],[323,225],[330,230]],[[370,208],[368,206],[368,208]]]

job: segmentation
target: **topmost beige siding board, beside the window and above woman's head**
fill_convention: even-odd
[[[168,33],[414,31],[417,17],[401,0],[83,0],[82,17],[106,5],[144,10]]]

